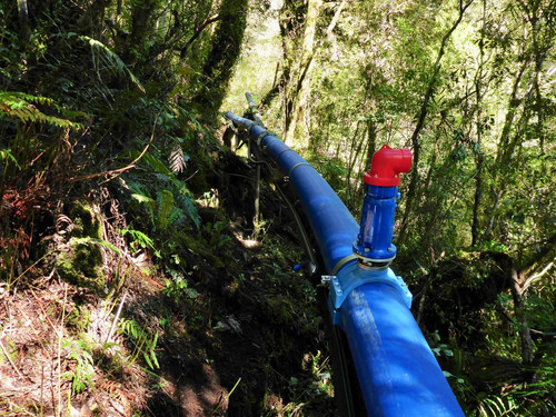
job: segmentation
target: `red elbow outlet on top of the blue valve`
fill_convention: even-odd
[[[365,172],[365,183],[378,187],[396,187],[399,185],[399,173],[409,172],[413,165],[409,149],[391,149],[388,145],[373,156],[370,171]]]

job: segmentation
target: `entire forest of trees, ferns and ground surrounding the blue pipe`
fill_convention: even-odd
[[[0,24],[0,413],[334,415],[297,232],[269,185],[254,220],[222,139],[245,91],[356,217],[374,151],[411,148],[394,268],[461,406],[556,413],[554,0],[3,0]]]

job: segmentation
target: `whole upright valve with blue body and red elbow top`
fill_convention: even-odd
[[[354,254],[363,267],[387,267],[396,257],[391,237],[399,173],[409,172],[411,163],[409,149],[391,149],[388,145],[373,156],[370,171],[364,176],[368,188],[363,201],[359,234],[354,242]]]

